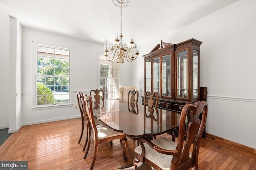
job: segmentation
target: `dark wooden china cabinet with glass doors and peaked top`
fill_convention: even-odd
[[[189,39],[156,45],[144,57],[144,91],[158,92],[158,106],[181,112],[186,103],[200,100],[200,45]],[[144,104],[144,96],[142,96]]]

